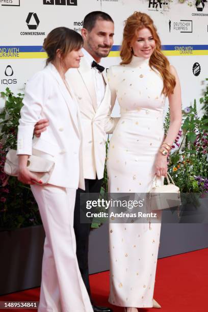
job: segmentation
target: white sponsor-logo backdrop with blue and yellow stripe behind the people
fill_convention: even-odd
[[[208,77],[207,0],[0,0],[0,90],[9,87],[23,93],[27,80],[45,66],[42,44],[48,32],[59,26],[80,32],[84,16],[96,10],[115,21],[114,45],[103,66],[120,62],[124,20],[134,11],[145,12],[154,20],[162,50],[178,72],[183,107],[194,98],[199,102]]]

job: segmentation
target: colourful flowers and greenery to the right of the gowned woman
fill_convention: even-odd
[[[206,79],[208,81],[208,79]],[[169,158],[169,172],[181,192],[208,193],[207,150],[208,150],[208,86],[200,98],[204,114],[199,117],[196,100],[193,107],[183,110],[183,123],[172,145]],[[164,129],[169,126],[169,112]]]

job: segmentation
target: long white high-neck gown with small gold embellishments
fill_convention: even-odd
[[[108,151],[109,192],[146,193],[164,140],[162,77],[149,59],[133,56],[130,64],[110,67],[108,80],[121,113]],[[110,223],[109,230],[110,303],[152,307],[161,223]]]

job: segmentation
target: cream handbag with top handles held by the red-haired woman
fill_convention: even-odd
[[[170,183],[169,177],[172,183]],[[158,186],[157,176],[154,177],[148,198],[149,208],[151,211],[164,210],[171,207],[179,206],[181,204],[180,190],[174,184],[174,181],[169,173],[167,175],[167,181],[168,185]]]

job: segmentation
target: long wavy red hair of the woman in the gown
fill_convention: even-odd
[[[173,93],[175,88],[175,77],[170,72],[170,63],[161,51],[161,41],[157,34],[157,28],[153,24],[153,20],[149,15],[141,12],[134,12],[125,21],[123,30],[123,42],[121,45],[120,56],[121,64],[129,64],[132,60],[132,50],[130,44],[132,40],[136,39],[137,32],[143,28],[148,28],[155,41],[155,49],[150,57],[149,66],[152,69],[157,69],[163,78],[162,93],[169,95]]]

